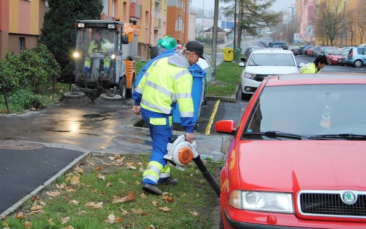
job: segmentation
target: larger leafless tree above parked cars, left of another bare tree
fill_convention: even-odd
[[[317,7],[315,19],[315,33],[318,38],[324,38],[333,46],[334,41],[339,37],[342,28],[342,20],[347,18],[349,10],[343,14],[341,0],[324,0]]]

